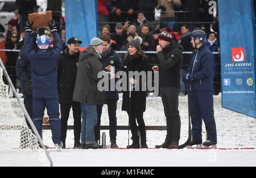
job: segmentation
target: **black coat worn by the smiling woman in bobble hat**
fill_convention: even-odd
[[[142,56],[139,56],[135,59],[131,59],[131,56],[127,56],[127,59],[124,61],[123,66],[127,67],[126,74],[127,74],[127,80],[128,80],[128,72],[129,71],[150,71],[148,67],[148,60],[143,59]],[[141,90],[142,85],[146,85],[146,83],[142,83],[142,80],[140,80],[139,84],[140,90],[139,91],[131,91],[131,109],[134,111],[145,111],[146,110],[146,91]],[[129,104],[130,104],[130,98],[129,98],[129,81],[127,81],[127,91],[123,91],[123,101],[122,101],[122,110],[125,110],[129,112]],[[135,90],[135,89],[134,89]]]

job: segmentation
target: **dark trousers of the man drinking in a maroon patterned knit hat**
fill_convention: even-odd
[[[161,97],[166,116],[167,135],[166,142],[179,142],[180,115],[179,115],[179,89],[172,86],[161,86]]]

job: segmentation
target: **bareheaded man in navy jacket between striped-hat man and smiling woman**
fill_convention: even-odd
[[[110,36],[109,35],[101,35],[100,39],[103,42],[103,52],[102,56],[102,65],[104,71],[115,71],[117,73],[122,68],[122,61],[117,52],[115,52],[110,47]],[[113,78],[112,80],[117,80],[117,78]],[[111,81],[109,81],[109,91],[106,92],[106,103],[108,105],[108,114],[109,114],[109,136],[110,136],[110,148],[118,148],[116,144],[116,136],[117,136],[117,101],[118,101],[118,93],[116,90],[110,90]],[[100,139],[100,125],[101,125],[101,113],[102,113],[103,105],[97,105],[97,116],[98,121],[97,125],[94,126],[95,140],[96,142]]]

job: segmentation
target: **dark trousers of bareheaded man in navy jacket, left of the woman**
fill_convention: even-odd
[[[109,114],[109,136],[110,140],[116,140],[117,137],[117,99],[108,99],[108,114]],[[97,125],[94,126],[95,140],[100,139],[100,127],[101,127],[101,114],[103,105],[97,105]]]

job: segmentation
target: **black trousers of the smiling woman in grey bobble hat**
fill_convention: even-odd
[[[143,119],[143,111],[134,111],[131,107],[130,113],[127,111],[129,115],[129,124],[130,124],[130,130],[131,130],[131,139],[133,142],[138,142],[139,136],[138,136],[138,129],[137,129],[137,123],[139,126],[139,132],[141,133],[141,142],[146,143],[146,126]]]

